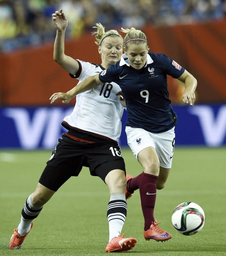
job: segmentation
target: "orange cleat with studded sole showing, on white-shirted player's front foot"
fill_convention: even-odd
[[[124,235],[112,238],[107,244],[105,252],[127,252],[128,250],[133,250],[137,240],[134,237],[124,238]]]

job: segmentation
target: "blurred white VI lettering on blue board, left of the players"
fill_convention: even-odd
[[[4,114],[12,118],[16,127],[20,146],[23,149],[36,149],[38,147],[54,148],[58,138],[61,137],[63,118],[70,115],[72,108],[35,109],[33,115],[27,108],[5,108]]]

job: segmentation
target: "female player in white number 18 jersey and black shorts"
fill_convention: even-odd
[[[53,23],[57,29],[54,60],[69,72],[71,77],[77,78],[79,83],[120,60],[123,38],[116,30],[105,32],[100,23],[94,27],[97,29],[93,33],[96,37],[95,43],[99,46],[98,52],[102,60],[101,65],[96,65],[74,60],[64,54],[67,19],[62,10],[53,14]],[[99,176],[109,187],[109,242],[105,251],[128,251],[136,245],[135,238],[119,235],[127,214],[125,163],[118,144],[123,113],[119,96],[116,96],[119,90],[120,87],[116,83],[104,83],[76,98],[73,112],[62,122],[68,132],[58,140],[35,192],[25,202],[21,222],[18,228],[14,229],[10,240],[10,249],[21,248],[33,226],[33,219],[39,215],[43,205],[71,176],[78,176],[82,166],[89,167],[90,174]]]

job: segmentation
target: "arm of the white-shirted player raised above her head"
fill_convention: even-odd
[[[52,14],[53,23],[56,26],[56,38],[54,43],[54,60],[68,73],[76,75],[79,65],[76,60],[64,54],[65,31],[68,24],[62,9]]]

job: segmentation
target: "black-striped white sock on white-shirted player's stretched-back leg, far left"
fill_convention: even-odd
[[[32,221],[38,217],[42,208],[43,208],[43,205],[39,207],[35,207],[31,203],[31,195],[27,198],[24,208],[22,209],[22,212],[21,212],[21,221],[18,226],[19,235],[24,236],[28,233],[28,231],[31,228]]]

